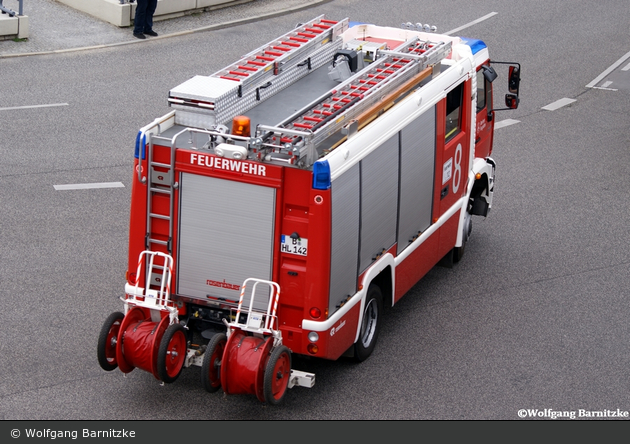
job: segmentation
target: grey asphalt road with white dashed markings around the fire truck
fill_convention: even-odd
[[[104,372],[96,341],[122,308],[138,129],[168,112],[170,88],[321,13],[428,22],[441,32],[468,24],[457,34],[484,40],[493,59],[521,63],[521,106],[497,114],[517,122],[495,131],[494,207],[473,220],[464,259],[432,270],[387,312],[366,362],[298,360],[317,382],[290,390],[278,407],[208,394],[196,367],[165,386],[142,371]],[[0,419],[630,411],[628,37],[623,0],[395,0],[386,8],[336,0],[142,45],[0,60]],[[20,108],[33,105],[54,106]],[[102,182],[124,186],[55,188]]]

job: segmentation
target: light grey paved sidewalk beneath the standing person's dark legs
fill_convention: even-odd
[[[214,11],[160,20],[154,24],[154,29],[160,36],[152,39],[255,21],[329,1],[254,0]],[[147,40],[139,40],[133,37],[132,28],[119,28],[55,0],[31,0],[24,3],[24,15],[29,18],[29,38],[24,42],[0,41],[0,58],[108,45],[141,44],[151,39],[149,37]]]

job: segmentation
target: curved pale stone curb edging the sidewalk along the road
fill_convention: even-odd
[[[282,15],[286,15],[286,14],[291,14],[293,12],[302,11],[304,9],[309,9],[309,8],[314,7],[314,6],[320,6],[320,5],[323,5],[325,3],[329,3],[331,1],[332,0],[315,0],[315,1],[312,1],[312,2],[310,2],[308,4],[306,4],[306,5],[293,6],[291,8],[283,9],[283,10],[280,10],[280,11],[270,12],[269,14],[260,14],[260,15],[257,15],[257,16],[249,17],[249,18],[232,20],[232,21],[224,22],[224,23],[217,23],[215,25],[203,26],[201,28],[191,29],[191,30],[188,30],[188,31],[180,31],[180,32],[174,32],[174,33],[171,33],[171,34],[160,35],[158,37],[153,37],[153,38],[151,38],[149,40],[130,40],[128,42],[108,43],[108,44],[105,44],[105,45],[95,45],[95,46],[83,46],[83,47],[79,47],[79,48],[55,49],[55,50],[52,50],[52,51],[24,52],[24,53],[17,53],[17,54],[0,54],[0,59],[7,59],[7,58],[14,58],[14,57],[27,57],[27,56],[36,56],[36,55],[64,54],[64,53],[75,52],[75,51],[88,51],[88,50],[94,50],[94,49],[112,48],[112,47],[115,47],[115,46],[147,43],[149,41],[161,40],[161,39],[166,39],[166,38],[169,38],[169,37],[177,37],[177,36],[193,34],[193,33],[197,33],[197,32],[214,31],[214,30],[218,30],[218,29],[229,28],[231,26],[245,25],[245,24],[257,22],[257,21],[260,21],[260,20],[265,20],[265,19],[274,18],[274,17],[280,17]]]

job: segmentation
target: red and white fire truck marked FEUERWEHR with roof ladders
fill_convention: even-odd
[[[199,366],[209,392],[277,404],[315,382],[293,354],[370,356],[383,307],[458,262],[492,206],[500,62],[430,28],[320,16],[169,92],[136,140],[104,370]]]

